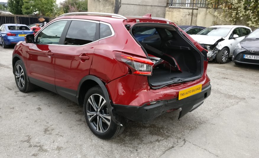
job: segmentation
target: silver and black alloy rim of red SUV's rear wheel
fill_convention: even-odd
[[[93,94],[88,98],[87,118],[95,131],[103,133],[108,130],[111,123],[111,116],[107,109],[105,99],[98,94]]]

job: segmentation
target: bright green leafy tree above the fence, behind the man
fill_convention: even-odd
[[[56,0],[23,0],[23,2],[23,14],[38,12],[40,15],[45,15],[52,13],[56,4]]]

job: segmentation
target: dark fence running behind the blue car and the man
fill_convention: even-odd
[[[52,17],[44,17],[48,21],[53,20]],[[24,24],[30,25],[39,23],[36,15],[13,15],[13,14],[0,14],[0,25],[2,24]]]

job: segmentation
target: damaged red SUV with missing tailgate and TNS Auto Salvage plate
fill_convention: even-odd
[[[20,91],[37,85],[83,105],[101,139],[122,133],[127,119],[196,109],[211,93],[207,63],[207,50],[167,19],[91,12],[52,20],[12,57]]]

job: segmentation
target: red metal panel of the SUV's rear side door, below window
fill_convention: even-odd
[[[54,54],[56,86],[77,90],[80,80],[89,75],[98,41],[84,46],[60,45]],[[88,60],[80,59],[86,56]]]

